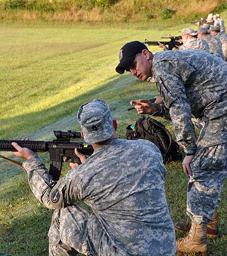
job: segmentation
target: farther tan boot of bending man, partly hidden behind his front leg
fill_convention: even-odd
[[[177,222],[174,224],[175,229],[179,231],[189,231],[191,228],[190,222]],[[207,236],[209,238],[217,238],[219,234],[217,210],[214,211],[212,220],[207,223]]]

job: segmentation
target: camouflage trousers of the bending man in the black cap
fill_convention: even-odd
[[[206,121],[191,161],[187,214],[197,224],[208,223],[218,206],[227,175],[227,116]]]

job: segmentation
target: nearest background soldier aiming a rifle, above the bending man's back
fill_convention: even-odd
[[[209,52],[209,46],[202,39],[198,39],[197,32],[191,28],[184,28],[182,30],[182,46],[176,46],[179,50],[201,50]],[[164,51],[168,50],[164,44],[159,43],[159,47]]]

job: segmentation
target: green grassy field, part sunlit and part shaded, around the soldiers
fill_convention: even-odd
[[[222,13],[226,17],[227,13]],[[132,99],[157,95],[155,84],[115,67],[118,51],[131,40],[160,40],[180,35],[190,24],[62,25],[9,23],[0,25],[1,139],[29,137],[52,140],[53,130],[79,130],[76,111],[80,104],[100,97],[109,102],[118,120],[118,136],[139,115],[128,112]],[[159,51],[158,47],[150,47]],[[161,119],[159,119],[161,120]],[[170,122],[164,122],[173,133]],[[4,155],[12,157],[11,153]],[[48,164],[48,155],[41,157]],[[181,163],[166,165],[166,193],[173,221],[187,220],[187,178]],[[63,168],[63,174],[69,170]],[[220,208],[220,238],[209,239],[211,256],[226,256],[226,184]],[[0,161],[0,253],[20,256],[48,255],[47,232],[52,211],[45,209],[29,189],[26,174]],[[176,237],[183,234],[176,233]]]

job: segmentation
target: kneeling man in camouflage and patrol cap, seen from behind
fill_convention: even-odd
[[[29,185],[39,201],[56,209],[49,229],[49,255],[174,256],[175,231],[159,149],[149,141],[117,138],[106,101],[80,106],[82,135],[94,148],[89,158],[58,182],[31,150],[12,145],[26,161]],[[91,210],[76,204],[83,201]]]

